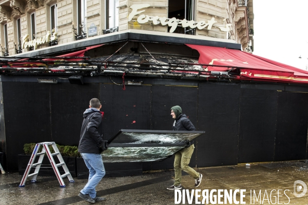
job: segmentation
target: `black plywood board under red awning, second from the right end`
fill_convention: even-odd
[[[238,163],[274,160],[276,90],[241,89]]]

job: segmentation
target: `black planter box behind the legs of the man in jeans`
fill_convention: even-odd
[[[77,178],[87,179],[89,170],[82,157],[76,158]],[[106,175],[104,177],[138,176],[142,175],[142,162],[104,162]]]

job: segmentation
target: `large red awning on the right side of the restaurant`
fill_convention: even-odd
[[[232,67],[239,67],[241,79],[308,83],[307,71],[274,60],[234,49],[188,44],[187,46],[199,52],[200,64],[226,66],[208,66],[208,71],[228,71]]]

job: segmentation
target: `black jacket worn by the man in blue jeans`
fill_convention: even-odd
[[[98,109],[89,108],[84,112],[78,151],[100,154],[102,133],[102,114]]]

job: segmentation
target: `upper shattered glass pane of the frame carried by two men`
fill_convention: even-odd
[[[200,133],[122,132],[112,142],[123,144],[175,144],[200,136]]]

